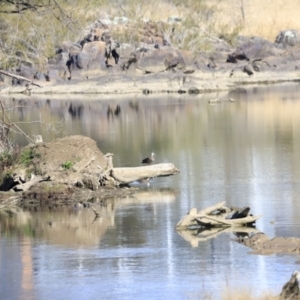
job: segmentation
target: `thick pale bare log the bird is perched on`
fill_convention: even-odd
[[[173,164],[163,163],[135,168],[113,168],[111,176],[121,184],[129,184],[153,177],[175,175],[178,172]]]

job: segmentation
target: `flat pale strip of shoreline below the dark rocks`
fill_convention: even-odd
[[[300,72],[263,72],[248,76],[240,72],[230,77],[226,73],[192,74],[163,72],[142,76],[107,74],[91,79],[64,82],[39,82],[36,85],[3,87],[0,94],[149,94],[149,93],[209,93],[229,91],[247,85],[276,84],[300,81]]]

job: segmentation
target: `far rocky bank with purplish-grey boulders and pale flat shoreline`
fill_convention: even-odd
[[[239,36],[234,46],[207,35],[203,49],[186,51],[175,48],[160,24],[150,21],[138,30],[138,42],[118,42],[115,28],[128,31],[130,26],[97,20],[83,38],[60,45],[43,72],[24,64],[0,71],[0,93],[197,94],[299,80],[300,33],[295,30],[279,32],[275,41]]]

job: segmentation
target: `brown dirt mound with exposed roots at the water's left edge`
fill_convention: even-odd
[[[137,189],[101,185],[107,161],[96,142],[69,136],[22,149],[0,185],[0,203],[18,199],[24,207],[68,205],[107,197],[130,195]]]

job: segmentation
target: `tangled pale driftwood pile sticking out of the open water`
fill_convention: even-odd
[[[236,209],[224,207],[225,202],[202,209],[197,213],[196,208],[190,210],[176,225],[176,228],[200,227],[228,227],[249,226],[261,216],[248,215],[250,208],[236,213]]]

